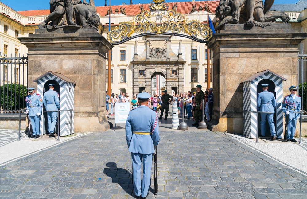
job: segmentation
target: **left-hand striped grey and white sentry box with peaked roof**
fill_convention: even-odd
[[[33,80],[33,82],[37,82],[37,93],[40,94],[43,99],[44,93],[49,90],[48,84],[55,84],[54,90],[58,92],[60,98],[60,110],[74,110],[75,81],[61,73],[48,71],[44,75]],[[45,111],[45,107],[43,111]],[[45,112],[43,113],[40,119],[41,135],[48,133],[47,114]],[[74,133],[74,111],[61,111],[60,118],[57,119],[57,122],[60,122],[60,136]],[[56,129],[56,132],[59,132],[59,130]]]

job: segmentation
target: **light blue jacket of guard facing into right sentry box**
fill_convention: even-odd
[[[276,99],[273,93],[268,91],[263,91],[258,94],[257,98],[258,111],[274,113],[275,107],[276,107]]]

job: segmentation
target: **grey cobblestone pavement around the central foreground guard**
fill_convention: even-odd
[[[161,131],[157,157],[148,199],[307,197],[304,174],[223,133]],[[134,198],[131,170],[124,130],[91,133],[0,166],[0,196]]]

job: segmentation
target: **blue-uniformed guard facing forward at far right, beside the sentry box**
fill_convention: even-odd
[[[282,102],[282,111],[285,113],[285,117],[289,115],[287,142],[297,142],[297,140],[294,139],[294,134],[297,119],[300,117],[300,114],[293,112],[299,112],[301,110],[301,97],[296,95],[297,86],[290,86],[289,91],[291,94],[286,96]]]

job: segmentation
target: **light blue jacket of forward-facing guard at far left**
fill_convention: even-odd
[[[27,110],[29,110],[29,116],[36,116],[37,113],[41,113],[43,110],[43,99],[40,94],[28,95],[25,98],[25,102]]]

